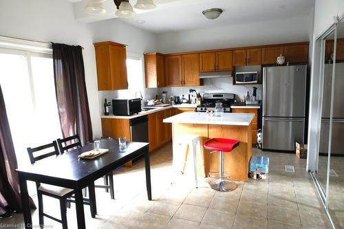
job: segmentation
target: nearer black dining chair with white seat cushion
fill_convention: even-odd
[[[51,151],[50,153],[41,153],[42,151],[45,152],[52,148],[54,150]],[[37,153],[37,152],[40,152],[40,153]],[[46,157],[51,157],[54,155],[57,156],[59,154],[56,141],[53,141],[50,144],[45,144],[43,146],[38,146],[35,148],[28,147],[28,153],[29,153],[31,164],[34,164],[36,161],[42,160]],[[34,156],[36,153],[39,155]],[[36,188],[37,188],[37,198],[39,200],[39,225],[41,226],[41,228],[43,228],[43,225],[44,225],[43,217],[48,217],[50,219],[58,221],[59,223],[62,223],[63,229],[67,229],[66,202],[67,202],[67,197],[72,195],[74,193],[74,190],[70,188],[54,186],[51,184],[43,184],[39,182],[36,182]],[[54,197],[60,201],[61,220],[56,219],[55,217],[52,217],[51,215],[47,215],[45,212],[43,212],[43,195]]]

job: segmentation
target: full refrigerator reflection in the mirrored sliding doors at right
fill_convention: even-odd
[[[333,64],[325,64],[323,78],[323,105],[321,113],[320,153],[328,151],[328,136],[330,131],[330,106],[332,89]],[[334,100],[332,119],[331,153],[344,155],[344,63],[336,63],[336,78],[334,79]]]

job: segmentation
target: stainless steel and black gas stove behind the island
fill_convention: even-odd
[[[234,94],[208,93],[203,95],[203,103],[196,107],[197,112],[215,111],[215,103],[222,102],[224,112],[230,112],[230,104],[234,102]]]

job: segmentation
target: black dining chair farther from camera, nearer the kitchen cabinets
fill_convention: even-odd
[[[76,149],[81,147],[81,142],[78,133],[76,135],[69,136],[67,138],[58,138],[57,139],[58,148],[60,149],[60,153],[63,154],[70,149]],[[114,176],[113,173],[107,173],[107,175],[103,176],[104,185],[94,185],[95,188],[105,188],[107,193],[110,192],[111,199],[114,199]],[[85,189],[86,190],[86,189]],[[86,195],[86,193],[84,193]]]

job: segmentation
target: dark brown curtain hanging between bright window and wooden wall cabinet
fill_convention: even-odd
[[[83,48],[52,43],[58,113],[63,138],[80,135],[81,144],[92,140],[92,124],[85,84]]]

